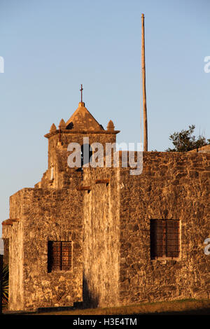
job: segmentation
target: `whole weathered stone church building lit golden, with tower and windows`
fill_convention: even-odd
[[[2,224],[10,310],[210,297],[209,150],[144,152],[139,175],[123,152],[119,167],[69,167],[70,143],[105,146],[118,132],[80,102],[45,134],[48,169],[10,197]]]

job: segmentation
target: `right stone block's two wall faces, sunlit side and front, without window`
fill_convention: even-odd
[[[90,255],[84,268],[93,301],[108,306],[209,298],[209,161],[209,153],[147,152],[139,176],[130,176],[129,168],[109,175],[86,170],[85,183],[92,186],[85,195],[83,252]],[[109,186],[94,183],[106,176]],[[179,221],[179,258],[151,259],[152,219]],[[110,256],[103,258],[108,246],[112,265]]]

